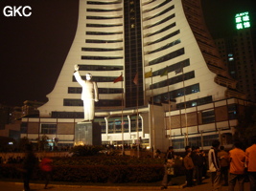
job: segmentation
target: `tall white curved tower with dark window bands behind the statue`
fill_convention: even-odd
[[[203,136],[232,134],[229,114],[244,98],[206,29],[199,0],[80,0],[75,39],[34,119],[39,131],[56,124],[54,136],[63,144],[74,140],[74,121],[83,115],[75,64],[97,81],[95,121],[103,143],[139,141],[165,150],[194,138],[203,146]],[[114,83],[120,75],[124,80]],[[218,121],[219,114],[226,117]]]

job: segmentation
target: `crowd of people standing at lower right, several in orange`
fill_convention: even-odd
[[[250,190],[256,190],[256,138],[252,138],[252,145],[243,150],[240,141],[234,141],[230,151],[220,147],[220,141],[214,140],[212,148],[206,155],[199,147],[185,147],[183,166],[186,175],[186,186],[191,187],[202,183],[202,178],[211,174],[213,190],[221,190],[221,186],[228,186],[234,191],[236,183],[240,191],[244,191],[244,180],[250,182]],[[175,159],[174,148],[169,147],[165,155],[165,174],[161,189],[167,189],[172,180],[172,169]]]

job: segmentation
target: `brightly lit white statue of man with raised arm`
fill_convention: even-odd
[[[74,68],[74,75],[82,87],[81,100],[83,100],[84,120],[91,121],[94,118],[94,101],[99,101],[97,83],[91,81],[92,74],[89,73],[85,74],[86,80],[81,79],[80,67],[75,65]]]

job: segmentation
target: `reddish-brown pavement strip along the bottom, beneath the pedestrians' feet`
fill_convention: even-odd
[[[31,191],[42,191],[43,184],[31,183]],[[104,186],[104,185],[64,185],[64,184],[50,184],[49,191],[102,191],[102,190],[120,190],[120,191],[130,191],[130,190],[160,190],[160,185],[150,185],[150,186]],[[21,191],[23,190],[23,184],[21,182],[10,182],[0,180],[0,190],[10,190],[10,191]],[[204,180],[203,184],[196,185],[194,187],[182,187],[182,186],[169,186],[168,190],[172,191],[212,191],[212,186],[210,179]],[[222,191],[227,191],[227,186],[222,186]],[[238,188],[236,187],[236,191]],[[244,191],[249,191],[249,183],[244,183]]]

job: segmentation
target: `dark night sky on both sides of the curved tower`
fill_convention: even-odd
[[[78,0],[0,0],[0,104],[47,101],[75,36]],[[234,27],[234,14],[254,0],[202,0],[216,36]],[[30,17],[5,17],[6,6],[30,6]],[[255,8],[255,3],[254,3]],[[255,15],[255,11],[254,11]],[[216,34],[217,33],[217,34]]]

